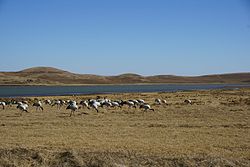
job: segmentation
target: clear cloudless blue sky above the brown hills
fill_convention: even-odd
[[[0,71],[250,72],[248,0],[0,0]]]

